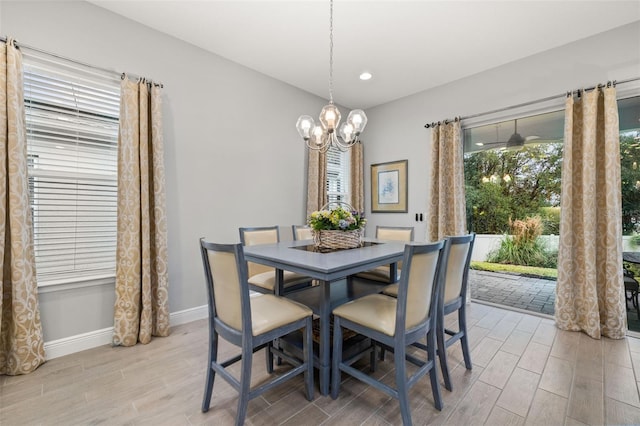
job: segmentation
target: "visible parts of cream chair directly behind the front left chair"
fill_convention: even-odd
[[[240,242],[243,246],[272,244],[280,242],[278,226],[240,228]],[[260,293],[274,293],[276,270],[270,266],[248,262],[249,285]],[[284,293],[299,290],[311,285],[311,278],[291,271],[283,271]]]

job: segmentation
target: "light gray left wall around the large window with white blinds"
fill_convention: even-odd
[[[325,101],[86,2],[0,2],[0,34],[164,84],[170,310],[206,304],[198,238],[305,220],[295,129]],[[40,294],[45,341],[113,325],[113,284]]]

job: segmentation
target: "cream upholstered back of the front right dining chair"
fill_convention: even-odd
[[[446,267],[444,241],[405,246],[404,268],[398,283],[396,333],[428,321],[436,312],[441,269]]]

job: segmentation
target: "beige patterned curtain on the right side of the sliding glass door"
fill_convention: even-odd
[[[599,339],[626,332],[616,90],[567,98],[556,324]]]

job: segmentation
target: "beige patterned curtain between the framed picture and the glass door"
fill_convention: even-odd
[[[467,232],[462,127],[459,120],[431,132],[431,198],[427,239]]]

